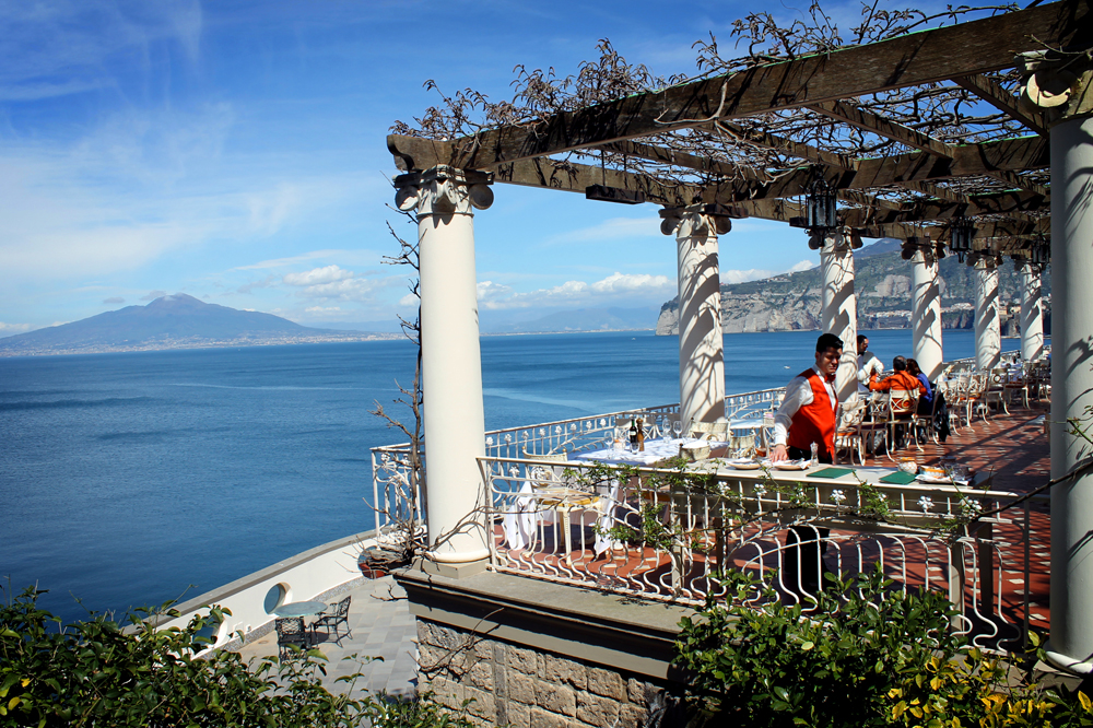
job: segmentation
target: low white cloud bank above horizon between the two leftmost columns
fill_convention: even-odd
[[[573,306],[613,303],[612,298],[649,298],[671,295],[675,283],[667,275],[645,273],[612,273],[587,283],[566,281],[550,289],[514,293],[504,284],[492,281],[479,283],[479,305],[485,309],[529,308],[531,306]]]

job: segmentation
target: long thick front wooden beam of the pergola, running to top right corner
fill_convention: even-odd
[[[1010,68],[1014,54],[1093,37],[1089,0],[1062,0],[969,23],[634,94],[540,124],[487,129],[448,163],[484,169],[622,139]],[[437,162],[426,163],[432,166]]]

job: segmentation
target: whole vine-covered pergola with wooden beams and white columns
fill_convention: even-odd
[[[1051,474],[1090,457],[1068,420],[1093,404],[1093,17],[1067,0],[634,93],[460,138],[389,136],[403,169],[397,203],[419,221],[422,381],[427,402],[432,557],[457,571],[485,557],[469,517],[481,492],[484,415],[472,208],[505,183],[662,207],[678,244],[680,411],[724,418],[718,235],[737,218],[809,232],[821,253],[823,328],[848,343],[841,399],[854,391],[854,260],[862,237],[895,237],[914,261],[915,356],[941,365],[939,257],[978,271],[977,364],[998,363],[997,267],[1023,271],[1022,352],[1043,352],[1039,280],[1054,289]],[[973,132],[877,113],[900,90],[989,108]],[[868,107],[867,107],[868,106]],[[809,139],[808,130],[823,128]],[[778,130],[796,133],[778,133]],[[926,130],[924,132],[924,129]],[[850,154],[856,134],[882,154]],[[858,145],[860,149],[860,144]],[[595,164],[598,156],[599,164]],[[592,157],[592,158],[588,158]],[[574,160],[586,158],[591,164]],[[1053,207],[1053,195],[1056,204]],[[837,207],[836,207],[837,201]],[[1056,485],[1050,654],[1093,667],[1093,477]]]

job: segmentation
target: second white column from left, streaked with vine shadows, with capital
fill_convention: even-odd
[[[698,207],[673,211],[661,230],[675,231],[680,294],[680,419],[725,420],[725,352],[717,225]]]

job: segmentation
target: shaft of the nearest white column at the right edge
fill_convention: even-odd
[[[1068,421],[1093,406],[1093,118],[1051,127],[1051,478],[1089,460]],[[1048,657],[1090,672],[1093,656],[1093,474],[1051,489],[1051,639]],[[1074,665],[1077,662],[1077,665]]]

